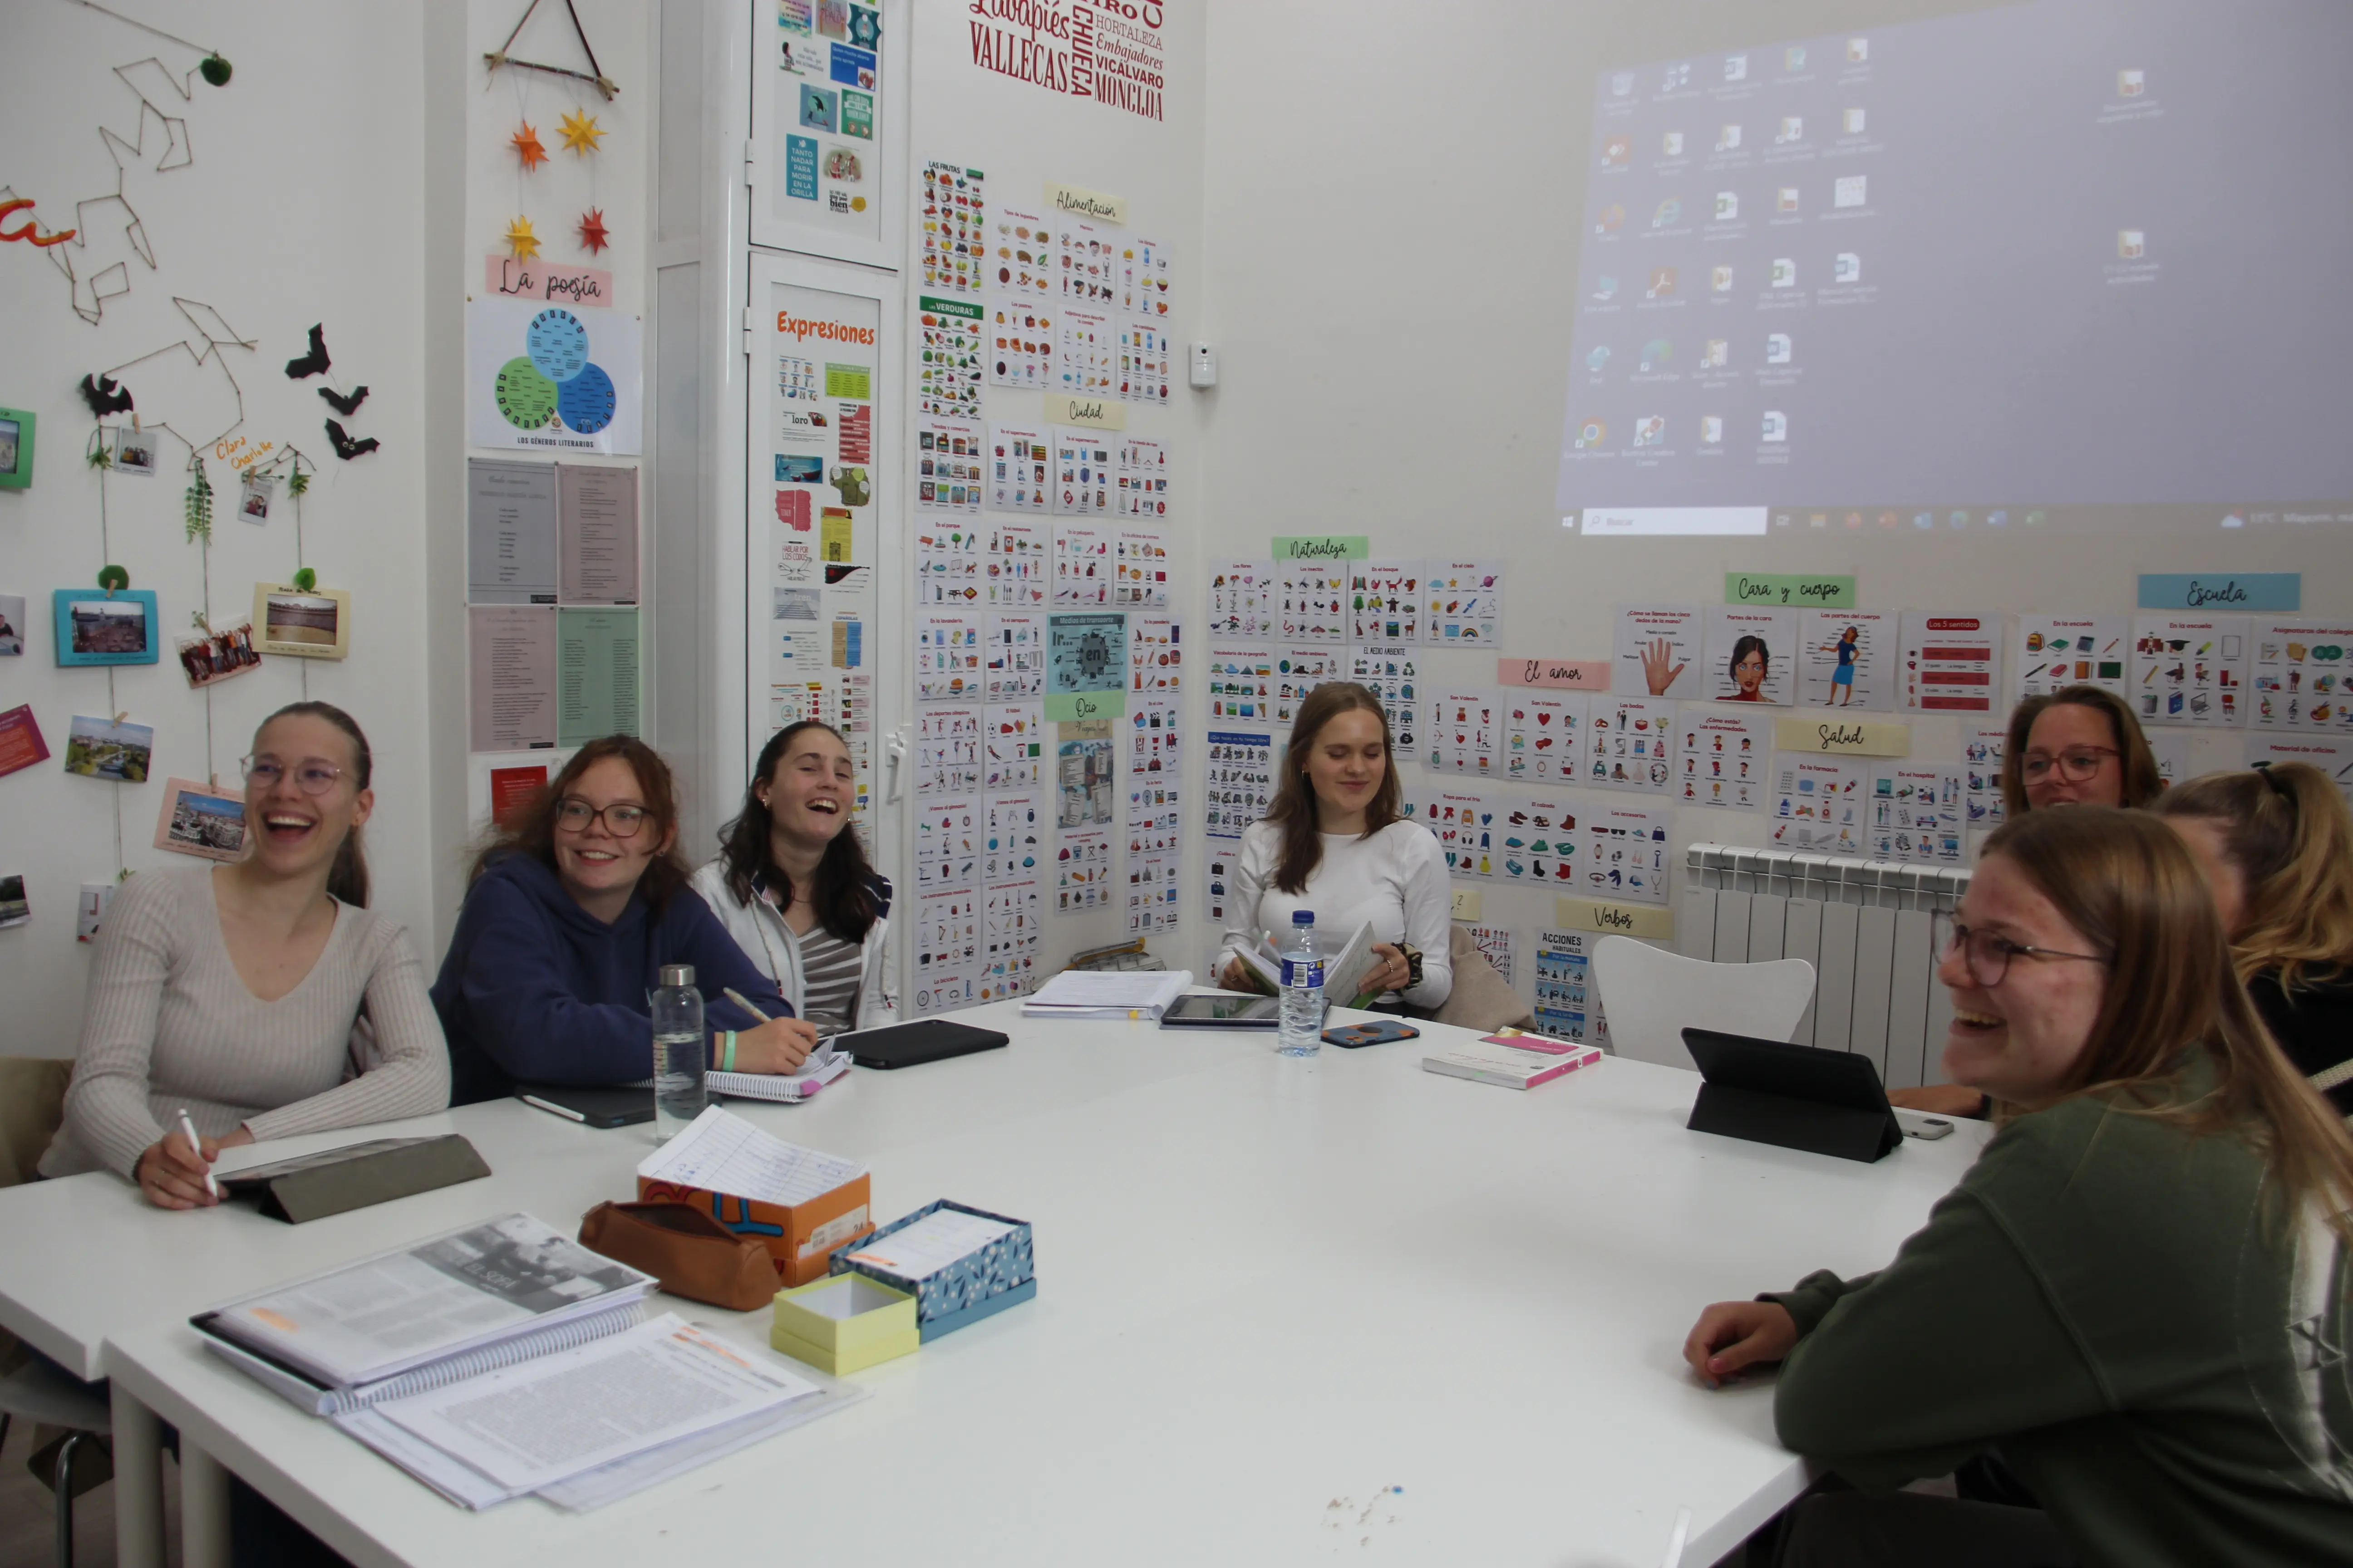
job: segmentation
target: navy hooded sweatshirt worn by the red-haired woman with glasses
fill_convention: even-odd
[[[769,1018],[791,1018],[776,983],[744,957],[711,905],[678,889],[661,914],[633,896],[609,926],[572,900],[548,865],[506,856],[468,889],[456,936],[433,980],[449,1039],[449,1103],[473,1105],[515,1084],[635,1084],[654,1074],[647,992],[664,964],[692,964],[713,1030],[758,1018],[727,1001],[734,987]]]

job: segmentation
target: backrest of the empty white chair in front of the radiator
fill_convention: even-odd
[[[1593,990],[1619,1056],[1661,1067],[1692,1067],[1685,1030],[1722,1030],[1753,1039],[1788,1039],[1814,999],[1805,959],[1708,964],[1631,936],[1593,945]]]

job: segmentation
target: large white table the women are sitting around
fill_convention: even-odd
[[[1687,1375],[1692,1316],[1809,1267],[1885,1262],[1984,1138],[1859,1166],[1689,1133],[1697,1079],[1642,1063],[1522,1095],[1421,1072],[1421,1044],[1294,1063],[1266,1034],[1024,1023],[1012,1006],[972,1018],[1014,1046],[736,1110],[873,1161],[878,1215],[955,1197],[1033,1220],[1038,1300],[859,1373],[866,1403],[694,1481],[588,1516],[539,1500],[466,1514],[226,1368],[181,1321],[468,1218],[532,1208],[567,1225],[628,1194],[642,1131],[513,1103],[449,1114],[489,1182],[304,1227],[132,1213],[151,1237],[188,1227],[169,1241],[202,1253],[205,1288],[151,1291],[148,1321],[108,1328],[104,1368],[122,1403],[181,1429],[184,1486],[214,1486],[224,1462],[362,1566],[638,1568],[772,1540],[861,1561],[887,1540],[1024,1566],[1346,1547],[1647,1568],[1678,1507],[1694,1519],[1685,1561],[1708,1563],[1807,1472],[1772,1441],[1769,1387]],[[16,1225],[7,1197],[0,1234]],[[202,1227],[238,1237],[224,1251],[242,1276],[212,1272]],[[153,1255],[139,1276],[167,1272]],[[0,1265],[0,1302],[21,1298],[19,1274]],[[765,1345],[767,1312],[680,1309]],[[216,1507],[188,1500],[188,1568],[219,1549]]]

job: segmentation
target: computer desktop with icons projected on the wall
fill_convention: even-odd
[[[2353,5],[2031,0],[1605,71],[1562,522],[2353,524]]]

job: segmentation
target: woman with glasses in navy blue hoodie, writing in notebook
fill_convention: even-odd
[[[734,1030],[736,1072],[791,1072],[816,1030],[687,891],[668,764],[628,736],[591,741],[473,863],[433,980],[449,1103],[525,1084],[635,1084],[654,1072],[647,992],[692,964],[704,1018]],[[760,1023],[725,990],[760,1004]],[[713,1044],[711,1065],[722,1046]]]

